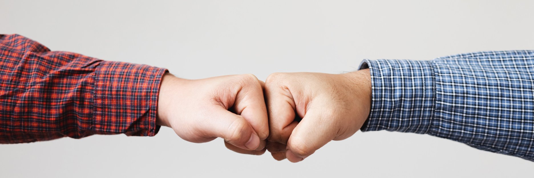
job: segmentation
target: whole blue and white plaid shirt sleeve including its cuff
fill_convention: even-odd
[[[534,161],[534,50],[364,60],[363,68],[373,93],[362,131],[429,134]]]

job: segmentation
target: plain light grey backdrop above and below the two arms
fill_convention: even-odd
[[[342,73],[362,59],[534,49],[533,1],[5,1],[0,33],[186,79]],[[0,145],[0,177],[532,177],[534,162],[443,138],[358,132],[297,164],[218,138],[95,135]]]

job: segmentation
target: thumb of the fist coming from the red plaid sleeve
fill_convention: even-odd
[[[215,109],[214,118],[205,127],[209,136],[221,137],[232,145],[245,150],[256,150],[260,145],[260,137],[248,121],[241,115],[224,109]]]

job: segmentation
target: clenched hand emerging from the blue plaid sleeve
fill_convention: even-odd
[[[267,150],[274,159],[299,162],[362,127],[371,107],[371,76],[369,69],[345,74],[274,73],[265,80],[265,98]]]

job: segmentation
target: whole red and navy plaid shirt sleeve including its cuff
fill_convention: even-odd
[[[153,136],[165,72],[0,35],[0,143],[94,134]]]

